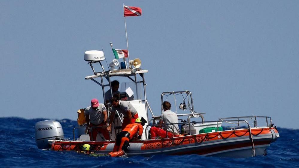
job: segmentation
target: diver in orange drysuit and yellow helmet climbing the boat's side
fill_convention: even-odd
[[[117,157],[125,155],[125,153],[129,149],[129,141],[135,137],[135,135],[138,136],[138,139],[141,139],[141,135],[143,132],[143,126],[147,123],[147,121],[143,117],[139,117],[135,120],[135,123],[128,124],[122,132],[117,134],[116,141],[114,144],[113,152],[110,152],[108,155],[111,157]]]

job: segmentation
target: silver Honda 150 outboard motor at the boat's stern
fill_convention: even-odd
[[[63,129],[58,121],[45,120],[35,124],[35,141],[39,149],[51,148],[48,140],[63,138]]]

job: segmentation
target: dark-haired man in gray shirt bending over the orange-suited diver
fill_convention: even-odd
[[[130,123],[134,123],[135,120],[138,118],[138,113],[136,109],[131,105],[130,102],[119,100],[117,97],[111,98],[111,118],[108,130],[111,129],[111,124],[113,122],[116,110],[119,113],[122,113],[124,116],[124,120],[122,121],[122,130]]]

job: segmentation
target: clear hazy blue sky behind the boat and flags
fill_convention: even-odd
[[[0,117],[76,120],[102,102],[84,52],[103,48],[110,62],[110,42],[127,48],[123,3],[142,8],[126,18],[129,52],[149,71],[155,115],[162,92],[190,90],[206,120],[263,115],[299,129],[299,1],[277,0],[1,0]]]

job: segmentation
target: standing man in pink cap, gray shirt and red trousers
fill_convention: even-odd
[[[106,129],[107,127],[107,110],[104,104],[99,103],[98,99],[91,100],[91,106],[87,107],[85,110],[86,128],[91,127],[101,127],[92,128],[89,131],[89,138],[95,141],[98,133],[102,133],[106,140],[110,140],[109,133]]]

